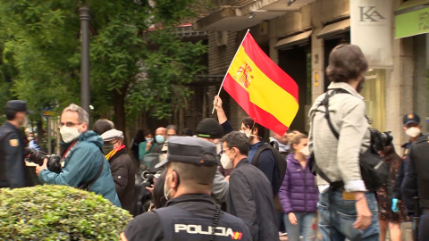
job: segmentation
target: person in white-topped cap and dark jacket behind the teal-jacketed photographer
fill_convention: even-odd
[[[121,201],[123,209],[132,213],[136,172],[127,147],[123,145],[123,133],[121,130],[110,129],[105,131],[101,137],[105,142],[103,153],[110,164],[119,201]]]

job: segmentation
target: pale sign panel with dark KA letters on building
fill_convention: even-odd
[[[391,0],[350,0],[351,44],[360,46],[370,68],[391,69]]]

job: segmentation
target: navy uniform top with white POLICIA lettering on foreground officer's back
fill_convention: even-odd
[[[208,240],[212,234],[215,206],[209,195],[181,195],[169,200],[166,207],[145,212],[124,230],[132,240]],[[251,240],[242,220],[220,212],[214,228],[214,240]]]

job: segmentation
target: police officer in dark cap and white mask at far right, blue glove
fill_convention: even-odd
[[[404,148],[404,154],[402,155],[402,162],[400,162],[400,170],[398,170],[398,175],[395,179],[395,187],[393,187],[393,199],[391,200],[391,210],[393,212],[400,212],[400,200],[404,202],[413,202],[413,197],[411,200],[405,200],[404,196],[401,195],[400,187],[405,178],[405,174],[408,169],[408,152],[411,148],[411,145],[414,144],[418,137],[422,137],[422,125],[420,125],[420,117],[414,113],[404,115],[404,127],[402,128],[405,131],[405,134],[409,137],[409,140],[406,144],[402,145]],[[414,209],[408,209],[408,215],[413,215]]]

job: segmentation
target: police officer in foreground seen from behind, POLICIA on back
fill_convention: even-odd
[[[130,222],[123,240],[251,240],[242,220],[220,211],[210,198],[218,161],[214,144],[196,137],[170,137],[164,196],[166,207]]]

